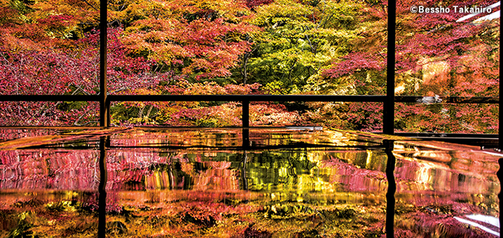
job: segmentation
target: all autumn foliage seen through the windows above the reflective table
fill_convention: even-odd
[[[396,95],[496,97],[499,20],[398,1]],[[499,7],[498,7],[499,8]],[[499,10],[495,8],[492,12]],[[109,1],[110,94],[384,94],[387,2]],[[99,1],[0,1],[1,94],[99,94]],[[92,102],[3,102],[1,125],[96,125]],[[497,132],[490,104],[396,104],[403,132]],[[240,102],[116,103],[114,125],[241,125]],[[253,102],[250,125],[382,130],[380,103]]]

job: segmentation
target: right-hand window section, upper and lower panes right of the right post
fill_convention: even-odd
[[[398,1],[396,95],[497,97],[495,2]],[[495,104],[406,103],[396,110],[397,132],[497,133]]]

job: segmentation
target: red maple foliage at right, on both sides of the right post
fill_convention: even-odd
[[[410,13],[413,1],[398,1],[396,94],[424,96],[497,96],[499,21],[456,22],[462,13]],[[431,1],[426,6],[488,6],[488,1]],[[384,94],[386,13],[384,3],[368,8],[371,26],[354,48],[323,75],[334,83],[353,82],[354,94]],[[363,111],[369,108],[362,107]],[[396,130],[406,132],[497,132],[495,106],[396,104]],[[381,111],[382,107],[380,110]],[[372,110],[370,110],[372,111]],[[375,117],[375,116],[374,116]],[[358,125],[358,123],[356,123]],[[372,125],[363,126],[370,130]],[[366,129],[365,129],[366,128]],[[362,128],[360,128],[362,129]]]

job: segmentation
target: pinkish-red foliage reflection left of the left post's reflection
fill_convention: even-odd
[[[0,189],[98,189],[97,151],[0,151],[0,158]]]

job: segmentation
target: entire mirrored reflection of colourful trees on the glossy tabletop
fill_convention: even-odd
[[[234,151],[242,145],[241,130],[210,131],[130,130],[87,148],[77,139],[36,151],[3,151],[0,184],[7,193],[0,212],[6,227],[0,232],[88,237],[100,228],[100,234],[118,237],[380,236],[391,209],[385,196],[391,155],[397,190],[388,214],[395,214],[397,237],[490,237],[457,218],[498,216],[495,155],[471,147],[396,141],[391,151],[366,137],[330,139],[341,132],[251,130],[244,153]],[[198,146],[177,147],[182,137]],[[170,140],[173,147],[163,147]],[[332,144],[259,149],[293,141]],[[206,147],[215,143],[230,147]],[[69,150],[76,145],[80,149]],[[106,186],[98,176],[105,161]],[[97,193],[98,186],[106,190]]]

